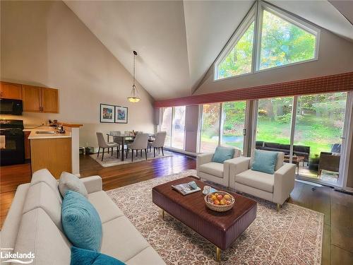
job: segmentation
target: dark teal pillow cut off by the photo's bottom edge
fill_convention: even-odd
[[[124,265],[124,262],[100,252],[71,247],[70,265]]]

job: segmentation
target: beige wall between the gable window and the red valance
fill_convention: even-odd
[[[214,65],[194,91],[194,95],[218,91],[251,88],[271,83],[281,83],[317,76],[328,76],[336,73],[353,71],[353,42],[338,37],[328,30],[321,29],[318,60],[268,69],[246,76],[227,78],[219,81],[214,79]]]

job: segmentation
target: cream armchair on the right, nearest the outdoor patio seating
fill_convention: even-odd
[[[273,175],[251,170],[252,158],[235,158],[229,167],[229,187],[277,204],[277,209],[294,189],[295,165],[283,163],[285,153],[278,153]]]

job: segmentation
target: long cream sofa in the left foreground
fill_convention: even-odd
[[[81,180],[88,190],[88,200],[102,220],[100,252],[131,265],[165,264],[102,191],[101,177],[85,177]],[[32,264],[35,265],[70,264],[71,243],[61,227],[61,202],[58,182],[50,172],[35,172],[30,183],[18,186],[1,230],[1,248],[8,248],[13,253],[32,252],[35,254]]]

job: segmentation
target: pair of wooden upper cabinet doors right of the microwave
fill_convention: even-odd
[[[23,111],[59,113],[59,93],[55,88],[22,85]]]

